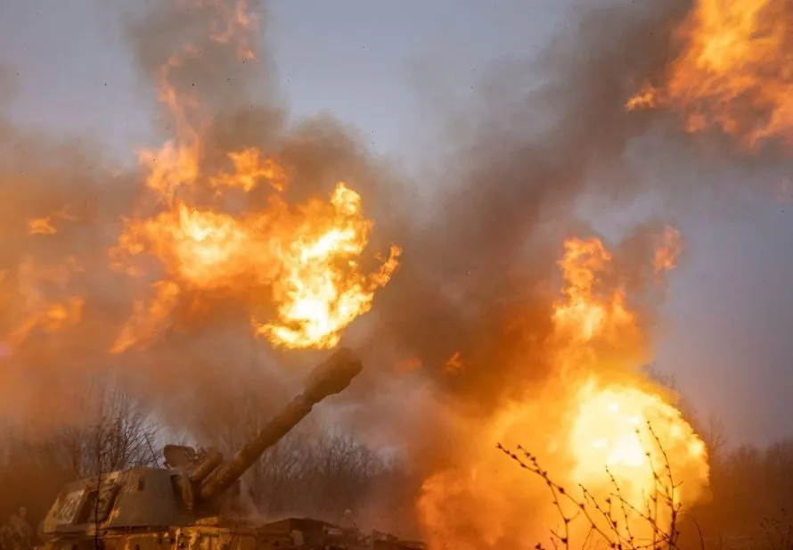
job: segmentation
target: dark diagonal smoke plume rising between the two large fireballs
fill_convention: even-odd
[[[476,132],[449,137],[459,153],[432,182],[426,216],[409,202],[378,219],[405,261],[380,292],[364,349],[375,357],[388,350],[394,372],[421,365],[422,376],[472,414],[544,381],[561,242],[592,233],[578,208],[587,197],[609,197],[620,209],[647,191],[645,179],[632,177],[631,146],[655,120],[626,112],[625,98],[672,59],[670,34],[690,5],[592,6],[535,60],[488,76],[495,85],[485,89],[510,90],[511,80],[523,80],[515,74],[529,70],[538,84],[478,98],[481,111],[463,125]],[[622,271],[637,300],[653,225],[658,230],[648,222],[625,242]],[[646,310],[649,324],[654,310]],[[464,368],[450,371],[457,354]]]

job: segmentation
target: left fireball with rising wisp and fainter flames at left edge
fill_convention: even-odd
[[[185,0],[175,7],[206,8],[212,18],[204,29],[208,39],[243,62],[255,61],[258,16],[246,0]],[[336,346],[347,325],[372,308],[401,250],[391,246],[385,258],[366,258],[372,220],[347,183],[290,204],[283,196],[290,174],[274,152],[252,146],[209,151],[211,110],[194,90],[178,86],[175,76],[190,62],[202,62],[201,49],[185,44],[155,74],[174,135],[137,154],[140,201],[121,220],[109,258],[110,267],[142,284],[130,285],[130,316],[110,352],[155,341],[184,320],[177,314],[200,322],[198,313],[221,303],[236,307],[250,332],[274,346]],[[215,161],[218,153],[225,162]],[[29,219],[27,231],[44,239],[58,233],[61,222],[76,219],[63,209]],[[64,275],[58,292],[43,290],[53,286],[46,271],[23,267],[26,304],[6,331],[4,348],[19,346],[36,328],[57,331],[79,322],[84,297],[64,290],[74,264],[59,267]]]

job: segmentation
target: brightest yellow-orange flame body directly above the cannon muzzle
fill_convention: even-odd
[[[246,162],[241,162],[243,158]],[[276,189],[285,184],[274,160],[249,163],[255,158],[250,152],[232,156],[241,170],[240,179],[233,173],[211,181],[243,190],[270,177],[276,177]],[[161,179],[162,174],[161,169],[152,174],[157,181],[151,187],[175,189]],[[112,250],[117,267],[139,275],[126,259],[149,252],[176,287],[169,285],[150,306],[136,308],[113,350],[151,339],[156,332],[152,327],[167,323],[176,307],[177,288],[225,291],[239,300],[252,299],[253,305],[273,300],[277,319],[255,319],[258,334],[289,348],[331,348],[339,342],[340,332],[372,307],[374,292],[388,283],[397,267],[400,250],[395,246],[378,270],[362,272],[357,259],[371,228],[361,212],[360,196],[344,184],[336,186],[330,202],[309,201],[296,208],[276,194],[266,209],[233,217],[177,200],[153,218],[129,220]]]

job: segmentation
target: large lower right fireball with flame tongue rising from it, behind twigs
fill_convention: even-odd
[[[666,242],[663,235],[658,240]],[[627,504],[642,512],[667,460],[675,499],[694,504],[707,487],[701,439],[671,396],[635,373],[644,340],[611,253],[598,239],[568,239],[564,247],[565,285],[550,312],[557,375],[532,390],[531,399],[508,403],[484,422],[462,418],[461,431],[478,433],[478,443],[460,449],[454,467],[425,480],[417,503],[431,548],[529,549],[559,524],[544,481],[504,464],[496,442],[528,447],[553,478],[570,488],[583,485],[593,497],[609,497],[614,476]],[[625,527],[637,539],[652,537],[639,513],[626,515]],[[663,528],[669,517],[657,517]],[[583,540],[588,526],[572,529]]]

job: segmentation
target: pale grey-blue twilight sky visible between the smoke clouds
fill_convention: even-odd
[[[150,97],[119,38],[123,4],[4,0],[0,63],[18,74],[16,119],[101,136],[127,159],[151,144]],[[330,111],[415,172],[438,131],[432,102],[464,98],[493,62],[530,57],[571,4],[274,0],[274,78],[295,116]],[[687,258],[672,277],[658,368],[701,414],[724,421],[732,443],[764,443],[793,436],[793,192],[732,202],[674,213]]]

